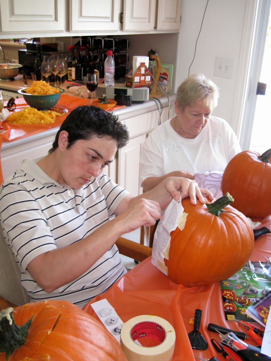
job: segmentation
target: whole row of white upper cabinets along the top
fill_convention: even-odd
[[[178,32],[180,11],[181,0],[0,0],[0,38]]]

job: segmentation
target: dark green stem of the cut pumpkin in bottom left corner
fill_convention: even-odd
[[[22,326],[17,326],[13,318],[13,308],[0,312],[0,352],[6,353],[6,360],[26,341],[32,317]]]

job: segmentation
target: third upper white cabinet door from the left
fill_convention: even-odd
[[[123,30],[153,30],[155,11],[156,0],[124,0]]]

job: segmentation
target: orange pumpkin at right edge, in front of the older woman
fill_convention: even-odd
[[[245,216],[263,218],[271,214],[271,149],[260,155],[238,153],[229,161],[222,178],[222,192],[234,198],[234,207]]]

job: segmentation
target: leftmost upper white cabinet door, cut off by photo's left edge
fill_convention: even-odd
[[[64,0],[0,0],[1,33],[64,31]]]

